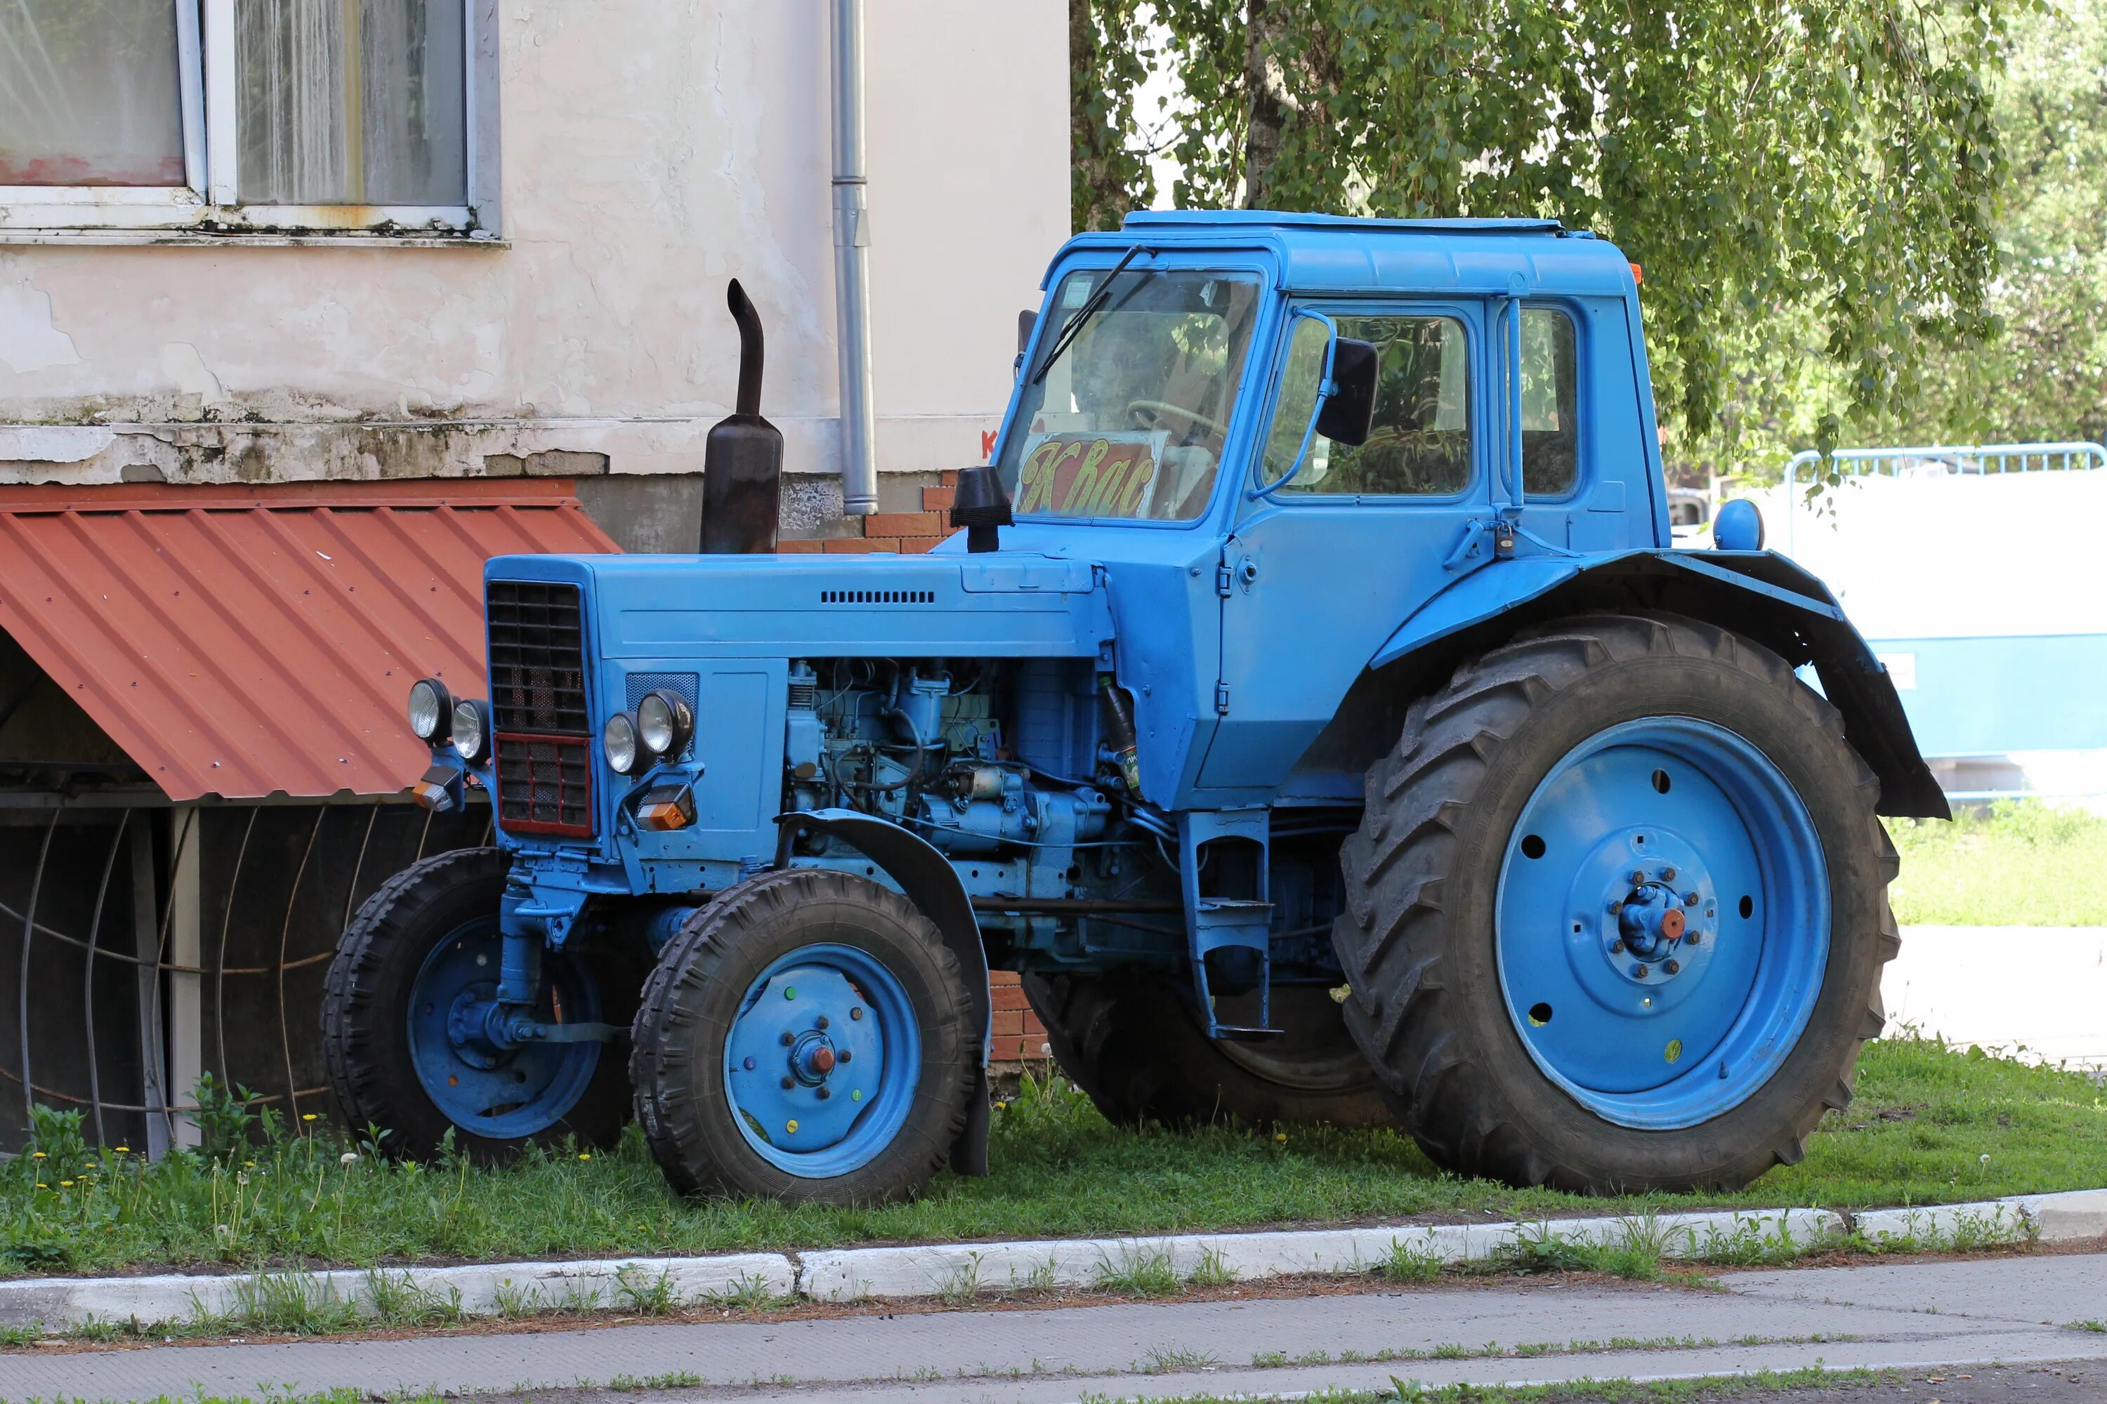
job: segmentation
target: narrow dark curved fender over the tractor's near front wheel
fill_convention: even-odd
[[[965,1128],[950,1147],[950,1168],[959,1175],[988,1172],[988,1052],[995,1042],[995,996],[988,989],[988,951],[980,943],[980,920],[950,859],[898,823],[860,815],[853,808],[820,808],[777,815],[775,867],[790,867],[790,844],[805,829],[839,838],[885,869],[914,907],[936,922],[944,945],[959,958],[965,994],[980,1023],[980,1078],[965,1105]]]

